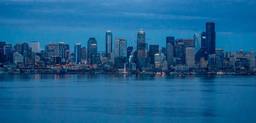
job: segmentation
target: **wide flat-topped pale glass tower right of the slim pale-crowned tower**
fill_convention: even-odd
[[[115,38],[114,53],[115,53],[115,57],[127,56],[126,38]]]

